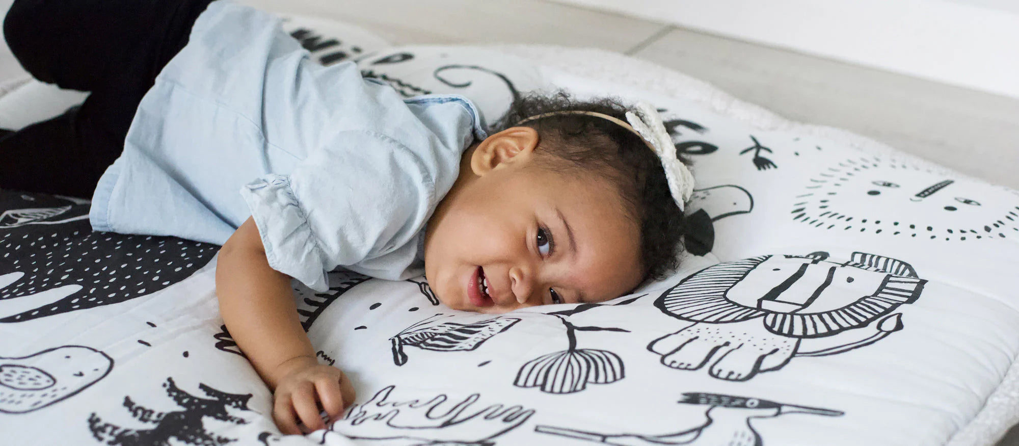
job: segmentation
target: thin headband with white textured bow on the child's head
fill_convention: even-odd
[[[622,125],[624,128],[633,131],[644,140],[661,160],[661,167],[665,169],[665,179],[668,181],[668,190],[673,193],[673,200],[683,211],[683,204],[690,200],[694,192],[694,175],[690,172],[679,158],[676,157],[676,146],[673,138],[665,130],[665,124],[661,121],[658,111],[645,102],[638,102],[634,107],[640,114],[633,111],[627,112],[627,121],[606,115],[604,113],[590,112],[583,110],[561,110],[549,113],[542,113],[528,118],[524,118],[515,125],[530,122],[535,119],[556,115],[589,115],[602,119],[608,119]]]

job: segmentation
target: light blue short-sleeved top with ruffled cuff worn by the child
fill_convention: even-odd
[[[484,137],[467,99],[404,100],[353,62],[313,61],[276,16],[217,0],[142,99],[90,219],[222,244],[252,216],[269,265],[313,289],[339,266],[406,279]]]

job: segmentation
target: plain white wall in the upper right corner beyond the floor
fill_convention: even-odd
[[[1019,98],[1014,0],[554,0]]]

